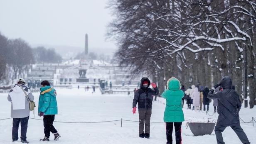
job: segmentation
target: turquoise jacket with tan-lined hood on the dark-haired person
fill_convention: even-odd
[[[42,87],[40,90],[38,113],[44,112],[44,115],[57,115],[56,90],[51,86]]]

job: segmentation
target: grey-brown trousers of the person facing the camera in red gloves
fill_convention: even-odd
[[[139,110],[139,133],[144,133],[144,124],[145,124],[145,133],[150,133],[150,118],[151,118],[152,110]]]

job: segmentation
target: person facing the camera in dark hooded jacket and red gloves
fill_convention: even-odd
[[[136,112],[136,105],[138,103],[139,110],[139,136],[141,138],[149,138],[150,137],[150,117],[152,113],[152,95],[158,95],[159,90],[155,83],[151,83],[148,78],[142,78],[140,81],[140,89],[135,91],[134,99],[133,99],[133,114]],[[145,133],[144,133],[144,124],[145,124]]]

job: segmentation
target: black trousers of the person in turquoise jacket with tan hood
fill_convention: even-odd
[[[50,132],[57,133],[57,130],[52,125],[55,115],[44,115],[44,136],[49,138]]]

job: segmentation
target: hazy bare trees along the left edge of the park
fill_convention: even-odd
[[[38,47],[32,49],[23,39],[7,39],[0,33],[0,82],[9,83],[35,63],[57,63],[62,57],[54,49]],[[10,78],[10,79],[9,79]]]

